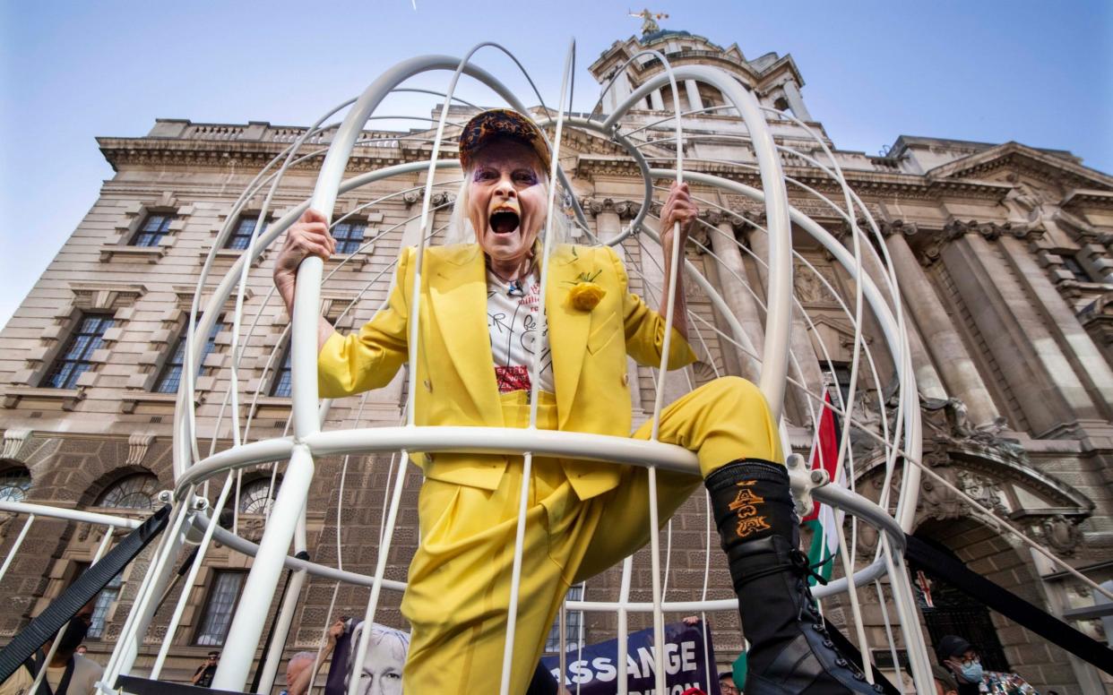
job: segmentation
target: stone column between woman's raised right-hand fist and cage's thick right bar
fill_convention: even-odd
[[[711,231],[711,250],[719,257],[718,264],[711,259],[712,266],[718,266],[716,270],[719,276],[719,291],[723,301],[730,307],[731,314],[742,325],[742,329],[754,342],[757,355],[746,355],[733,345],[723,342],[723,351],[732,350],[737,355],[741,376],[750,381],[757,383],[761,376],[761,348],[765,342],[765,325],[761,322],[761,312],[757,300],[747,286],[750,286],[746,276],[746,265],[742,262],[742,254],[735,241],[735,228],[729,221],[723,221],[718,212],[708,215],[708,221],[716,226],[717,231]]]

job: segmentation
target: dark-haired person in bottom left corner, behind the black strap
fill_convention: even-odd
[[[65,632],[57,638],[58,648],[47,665],[46,678],[43,678],[43,684],[39,686],[40,693],[46,693],[49,688],[52,695],[96,695],[97,681],[100,679],[105,668],[91,658],[77,653],[81,641],[85,639],[86,633],[89,631],[91,616],[92,607],[86,606],[86,609],[82,609],[67,623]],[[35,656],[23,664],[22,668],[16,669],[7,681],[0,684],[0,695],[28,695],[53,642],[53,639],[47,642]]]

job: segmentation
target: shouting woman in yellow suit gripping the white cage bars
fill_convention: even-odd
[[[467,242],[425,250],[417,297],[411,296],[415,250],[403,250],[388,305],[358,334],[341,336],[321,321],[322,395],[390,383],[408,357],[416,300],[421,342],[410,368],[417,370],[417,393],[411,395],[417,425],[525,427],[530,388],[538,381],[538,427],[649,438],[648,424],[630,434],[627,356],[659,365],[668,328],[660,312],[628,290],[622,262],[607,247],[553,245],[548,284],[540,287],[551,163],[540,130],[513,111],[481,112],[461,135],[460,160],[464,185],[450,235]],[[687,187],[673,186],[661,212],[666,265],[697,212]],[[327,259],[334,248],[316,211],[290,227],[274,271],[288,309],[298,264],[308,255]],[[670,369],[696,359],[686,339],[681,277],[672,288]],[[542,291],[548,331],[539,331],[545,325],[538,315]],[[534,350],[542,356],[538,374]],[[661,413],[659,439],[698,454],[752,645],[746,692],[871,692],[860,674],[837,666],[836,659],[846,662],[825,646],[830,642],[807,592],[777,427],[760,391],[733,377],[705,385]],[[528,485],[510,688],[521,693],[568,587],[649,538],[647,470],[536,458],[523,480],[516,456],[414,458],[425,481],[421,543],[402,602],[413,628],[405,691],[498,691],[519,497]],[[700,481],[659,471],[660,519]]]

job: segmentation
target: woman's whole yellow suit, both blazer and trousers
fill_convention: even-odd
[[[549,261],[545,314],[555,397],[542,394],[538,427],[630,436],[627,355],[660,364],[664,321],[628,290],[610,248],[565,246]],[[385,386],[407,359],[414,249],[398,261],[387,307],[357,335],[334,335],[318,357],[321,394],[338,397]],[[573,308],[581,277],[605,290],[591,310]],[[415,423],[524,427],[524,391],[499,394],[486,326],[486,271],[477,245],[426,249],[420,297]],[[695,361],[673,332],[669,368]],[[636,437],[648,438],[648,425]],[[760,393],[719,379],[661,416],[659,437],[699,454],[701,468],[736,458],[780,458]],[[403,614],[413,641],[407,693],[496,691],[510,568],[522,484],[521,458],[474,454],[417,456],[426,481],[418,502],[421,546],[410,568]],[[700,478],[660,471],[663,523]],[[525,689],[564,592],[646,543],[646,470],[564,459],[534,460],[523,546],[512,693]],[[604,533],[598,533],[604,532]]]

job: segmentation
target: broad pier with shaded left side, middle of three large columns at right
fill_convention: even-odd
[[[1015,270],[991,245],[1002,232],[998,225],[952,222],[940,257],[1033,435],[1054,438],[1080,418],[1097,418],[1097,408]]]

